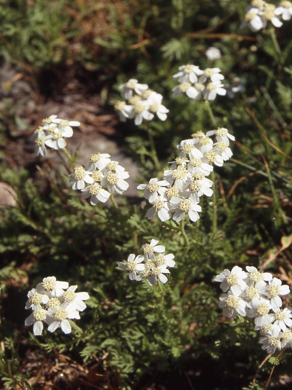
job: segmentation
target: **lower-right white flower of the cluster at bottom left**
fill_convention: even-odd
[[[80,319],[74,303],[63,302],[58,309],[49,309],[47,314],[45,322],[49,325],[49,332],[54,332],[60,326],[64,333],[71,333],[71,325],[68,319]]]

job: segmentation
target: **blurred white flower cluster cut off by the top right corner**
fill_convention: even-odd
[[[252,31],[259,31],[265,28],[270,21],[275,27],[281,27],[283,22],[279,19],[290,20],[292,16],[292,2],[281,1],[276,7],[274,4],[269,4],[264,0],[253,0],[245,10],[244,21],[240,28],[247,24]]]

